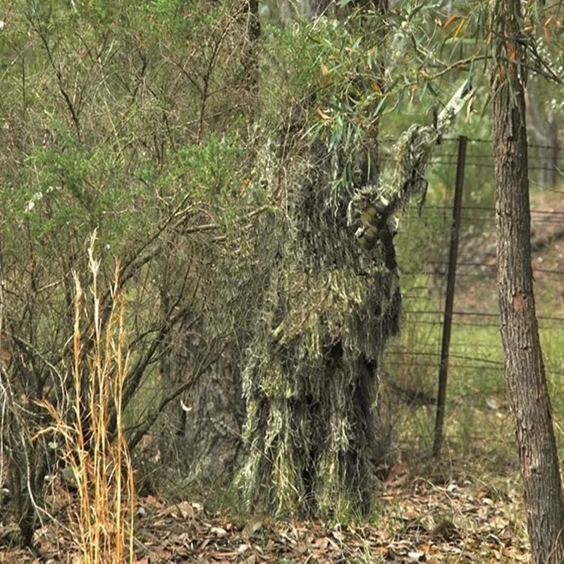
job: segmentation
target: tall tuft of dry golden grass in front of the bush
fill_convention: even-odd
[[[42,433],[54,432],[61,438],[67,482],[72,482],[76,489],[68,506],[70,529],[82,561],[133,562],[135,487],[123,434],[122,407],[129,368],[129,356],[125,353],[125,300],[120,294],[116,264],[111,309],[109,313],[102,312],[97,287],[99,262],[94,259],[93,247],[94,237],[88,252],[91,295],[85,297],[78,276],[74,276],[70,409],[64,414],[52,403],[42,401],[53,420]],[[90,303],[92,309],[88,312]],[[82,326],[90,328],[86,334]]]

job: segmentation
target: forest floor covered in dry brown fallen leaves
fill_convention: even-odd
[[[517,484],[464,479],[436,483],[413,479],[398,464],[377,495],[369,522],[346,525],[273,520],[210,512],[189,500],[139,498],[135,513],[137,564],[200,563],[494,563],[528,562],[523,508]],[[501,484],[501,485],[500,485]],[[56,496],[66,521],[68,495]],[[51,503],[57,503],[51,500]],[[38,551],[2,546],[2,563],[79,563],[64,527],[36,533]]]

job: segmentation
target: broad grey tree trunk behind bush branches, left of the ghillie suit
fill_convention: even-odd
[[[209,318],[204,314],[211,309],[207,303],[219,300],[218,296],[212,295],[212,288],[213,278],[219,276],[222,266],[219,266],[219,258],[217,262],[210,260],[214,264],[210,271],[204,262],[192,259],[198,252],[202,253],[201,242],[198,251],[197,244],[191,246],[178,239],[171,240],[170,250],[162,252],[160,257],[162,317],[171,317],[171,310],[183,294],[186,299],[192,296],[192,314],[187,314],[168,333],[166,354],[159,363],[161,396],[168,396],[192,379],[193,383],[164,408],[158,436],[160,462],[169,469],[178,470],[184,483],[192,484],[198,491],[206,491],[228,484],[241,462],[243,443],[240,435],[245,403],[235,338],[233,342],[220,345],[223,349],[221,357],[207,360],[214,338],[212,326],[225,333],[233,331],[212,319],[211,313]],[[208,249],[207,252],[210,256],[212,251]],[[251,309],[250,304],[246,305]],[[224,315],[222,320],[226,319]],[[207,369],[195,377],[202,365]]]

